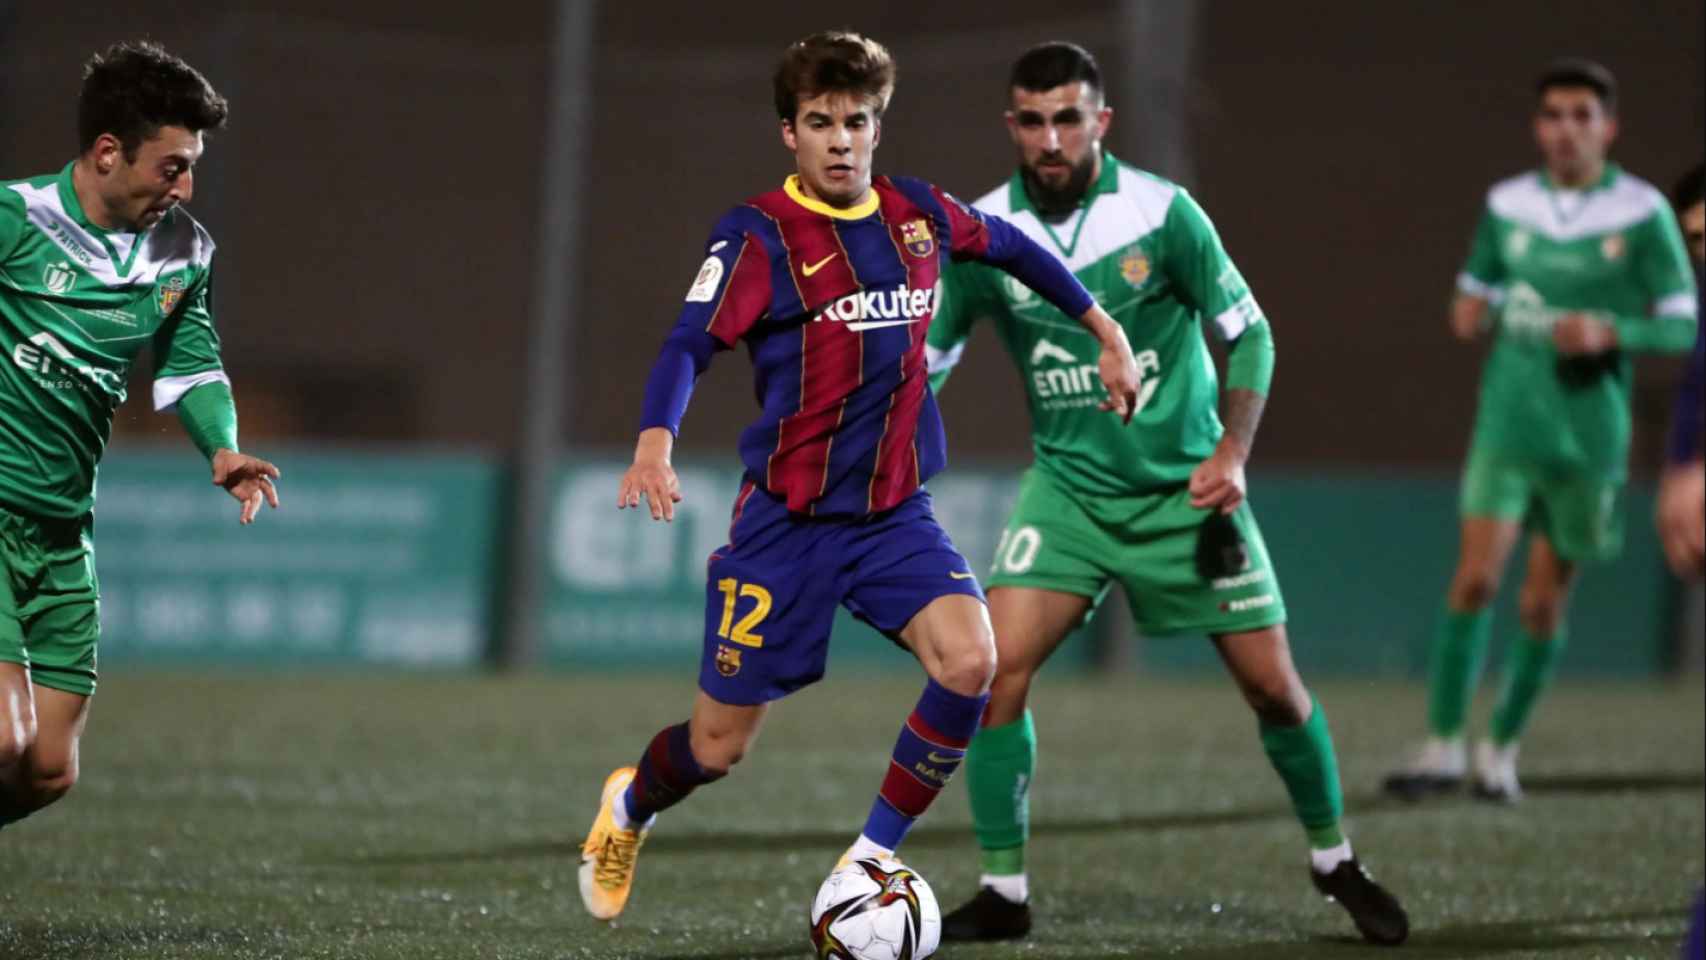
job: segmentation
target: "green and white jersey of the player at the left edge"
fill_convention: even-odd
[[[39,517],[92,508],[96,464],[143,346],[154,346],[155,409],[229,384],[212,261],[213,239],[183,210],[142,234],[92,223],[72,165],[0,182],[0,506]]]

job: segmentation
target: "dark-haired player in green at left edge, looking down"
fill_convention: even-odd
[[[131,361],[249,523],[278,469],[237,452],[213,333],[213,240],[181,205],[225,99],[157,44],[89,60],[80,152],[0,182],[0,827],[77,783],[96,689],[96,464]]]

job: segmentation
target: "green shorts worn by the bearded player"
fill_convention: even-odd
[[[1090,597],[1126,588],[1145,636],[1240,633],[1285,622],[1285,599],[1249,501],[1230,517],[1191,491],[1090,496],[1032,466],[1018,484],[986,587]]]

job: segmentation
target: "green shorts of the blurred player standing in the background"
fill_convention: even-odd
[[[1460,512],[1525,523],[1564,559],[1605,561],[1622,552],[1621,498],[1621,477],[1547,469],[1471,448]]]

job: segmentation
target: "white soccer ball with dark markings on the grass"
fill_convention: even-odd
[[[937,895],[901,861],[855,859],[831,873],[812,900],[821,960],[923,960],[940,943]]]

